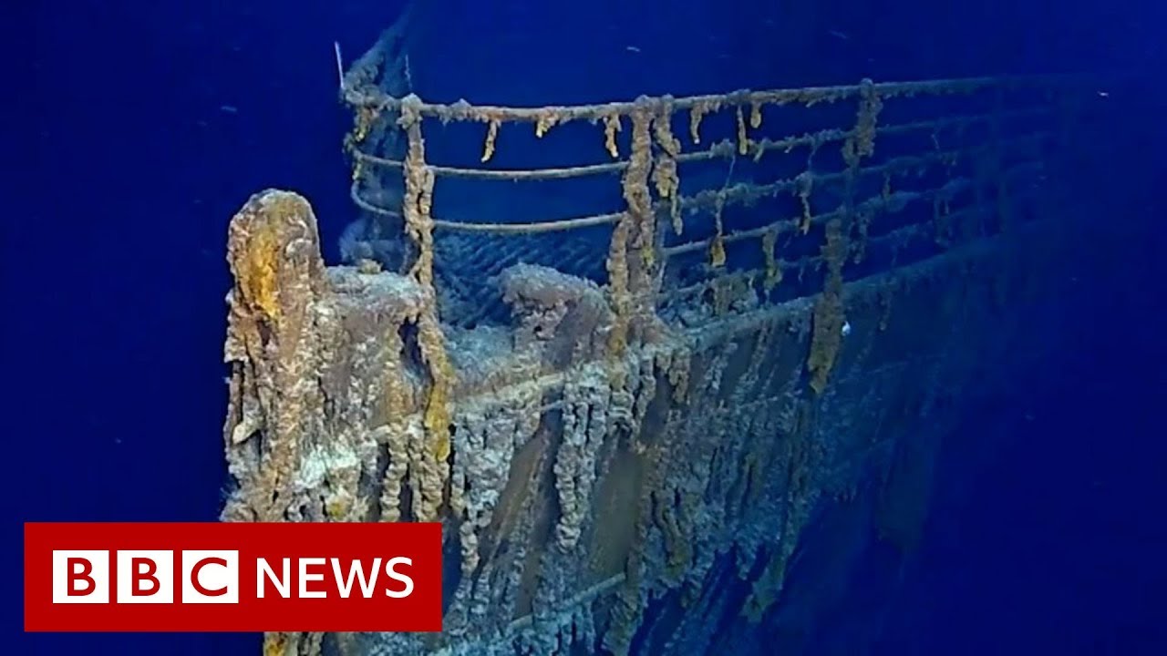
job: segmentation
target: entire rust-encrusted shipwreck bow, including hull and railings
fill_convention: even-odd
[[[867,536],[911,551],[939,438],[964,390],[1018,357],[1021,309],[1062,257],[1068,124],[1050,119],[1072,86],[520,110],[373,77],[345,89],[354,266],[323,266],[295,195],[232,222],[224,516],[440,521],[455,574],[441,635],[270,649],[797,652]],[[484,124],[481,163],[516,121],[552,147],[592,120],[609,161],[436,166],[434,119]],[[607,214],[546,221],[516,217],[552,196],[491,209],[441,183],[613,175]]]

